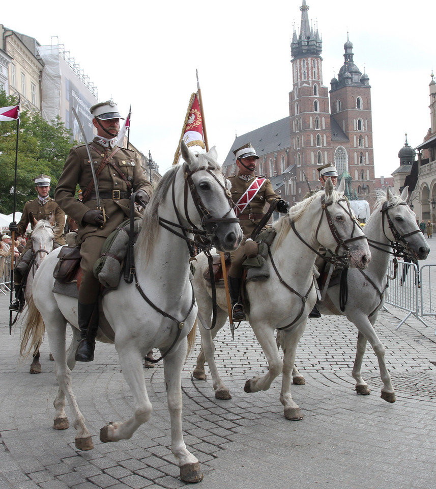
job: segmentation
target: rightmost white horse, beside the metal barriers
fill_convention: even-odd
[[[416,224],[416,215],[406,204],[408,187],[401,196],[393,195],[389,187],[377,198],[374,211],[364,226],[371,247],[371,262],[365,271],[348,270],[348,298],[341,312],[339,285],[330,287],[325,301],[319,304],[323,315],[344,315],[359,330],[357,352],[352,375],[356,380],[358,394],[368,395],[369,387],[362,378],[362,359],[367,341],[371,344],[379,361],[383,381],[382,399],[395,402],[395,391],[385,362],[385,347],[375,333],[374,323],[385,303],[388,286],[387,268],[393,254],[411,253],[417,260],[425,260],[430,251],[424,235]],[[301,376],[301,374],[297,374]],[[301,382],[301,381],[300,381]]]

